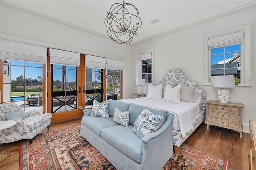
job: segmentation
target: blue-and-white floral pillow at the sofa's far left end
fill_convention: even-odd
[[[97,100],[94,100],[90,116],[109,117],[108,104],[108,100],[102,103],[98,102]]]

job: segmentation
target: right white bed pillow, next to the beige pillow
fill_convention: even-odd
[[[181,85],[175,86],[172,88],[169,84],[166,85],[164,90],[164,98],[163,100],[170,102],[180,102],[180,89]]]

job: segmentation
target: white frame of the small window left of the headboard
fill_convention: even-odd
[[[136,53],[136,61],[137,61],[137,77],[136,78],[142,78],[142,70],[141,70],[141,67],[142,67],[142,61],[139,60],[139,56],[140,55],[143,55],[143,54],[149,54],[151,53],[151,82],[149,83],[146,83],[146,84],[150,84],[150,83],[154,83],[154,48],[150,48],[150,49],[145,49],[145,50],[142,50],[142,51],[138,51]]]

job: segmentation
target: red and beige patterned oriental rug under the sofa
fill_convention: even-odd
[[[186,144],[163,170],[226,170],[227,161]],[[19,170],[116,170],[98,150],[80,136],[80,125],[42,133],[20,143]]]

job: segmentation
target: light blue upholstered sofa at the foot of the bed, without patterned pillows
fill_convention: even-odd
[[[122,112],[130,112],[128,127],[113,121],[116,107]],[[132,128],[144,108],[146,107],[109,100],[108,118],[90,116],[91,109],[86,109],[81,122],[81,136],[118,170],[161,170],[173,154],[174,115],[150,108],[154,115],[164,115],[165,123],[154,133],[140,139]]]

